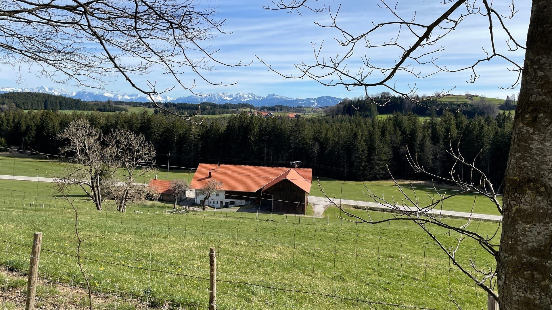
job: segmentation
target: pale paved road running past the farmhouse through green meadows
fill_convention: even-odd
[[[55,179],[53,178],[43,178],[43,177],[23,177],[20,175],[5,175],[0,174],[0,179],[8,179],[8,180],[20,180],[20,181],[38,181],[38,182],[55,182]],[[361,207],[369,207],[371,210],[376,209],[383,209],[383,210],[389,210],[390,208],[385,205],[377,204],[376,202],[369,202],[369,201],[358,201],[358,200],[348,200],[348,199],[335,199],[334,200],[336,204],[346,204],[346,205],[352,205],[352,206],[361,206]],[[327,206],[333,205],[331,202],[327,202],[326,197],[316,197],[316,196],[310,196],[309,195],[309,202],[313,205],[314,209],[314,216],[322,216],[322,213],[326,209]],[[408,210],[408,207],[401,206],[402,210]],[[470,213],[468,212],[458,212],[458,211],[446,211],[446,210],[431,210],[429,211],[433,214],[442,214],[444,216],[455,216],[455,217],[464,217],[468,218],[470,216]],[[473,213],[471,215],[472,218],[477,218],[480,220],[491,220],[491,221],[499,221],[502,220],[502,216],[500,215],[488,215],[488,214],[479,214],[479,213]]]

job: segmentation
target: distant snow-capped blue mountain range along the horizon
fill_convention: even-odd
[[[0,87],[0,93],[10,93],[10,92],[32,92],[32,93],[46,93],[52,95],[62,95],[66,97],[71,97],[75,99],[81,99],[84,101],[107,101],[111,99],[113,101],[139,101],[147,102],[150,101],[145,95],[140,94],[119,94],[119,93],[109,93],[109,92],[89,92],[88,90],[79,90],[78,92],[71,92],[70,90],[63,88],[53,88],[53,87],[35,87],[35,88],[12,88],[12,87]],[[158,102],[173,102],[173,103],[201,103],[201,102],[212,102],[212,103],[249,103],[255,106],[263,105],[289,105],[289,106],[328,106],[336,105],[342,99],[331,97],[331,96],[321,96],[317,98],[289,98],[277,94],[269,94],[267,96],[259,96],[256,94],[230,94],[230,93],[213,93],[213,94],[203,94],[199,95],[189,95],[179,98],[171,98],[167,95],[158,95],[156,101]]]

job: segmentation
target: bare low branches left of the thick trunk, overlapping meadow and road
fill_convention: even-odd
[[[493,234],[493,236],[491,237],[481,236],[476,231],[470,230],[469,225],[471,223],[474,207],[476,205],[475,200],[474,204],[471,206],[470,216],[464,225],[460,227],[451,225],[442,217],[442,209],[445,202],[448,202],[448,200],[453,199],[458,195],[468,193],[477,193],[481,196],[486,197],[493,203],[493,205],[496,206],[497,211],[501,215],[503,213],[502,203],[498,199],[495,186],[491,183],[487,175],[475,166],[475,159],[473,161],[468,161],[468,159],[464,158],[460,154],[459,145],[460,141],[458,141],[458,144],[454,148],[452,146],[452,143],[449,143],[449,149],[447,150],[447,153],[455,160],[455,163],[452,165],[448,177],[440,177],[437,174],[432,174],[428,172],[426,169],[424,169],[423,165],[418,162],[417,156],[412,157],[411,154],[408,153],[406,157],[408,163],[410,163],[411,168],[413,168],[415,172],[424,173],[430,176],[433,180],[458,185],[461,190],[452,195],[447,195],[443,193],[442,190],[438,190],[435,186],[433,186],[434,193],[437,195],[437,198],[435,199],[434,195],[428,195],[428,197],[431,198],[432,202],[427,205],[422,205],[420,204],[419,197],[416,196],[416,191],[412,183],[410,183],[410,186],[401,186],[399,182],[397,182],[395,178],[393,178],[389,169],[388,172],[390,174],[390,177],[392,178],[395,186],[397,186],[401,193],[400,197],[386,197],[383,193],[376,194],[368,186],[364,185],[365,190],[363,191],[363,193],[367,195],[369,199],[373,200],[378,205],[381,205],[384,208],[399,213],[400,216],[395,216],[386,220],[374,221],[370,216],[368,209],[366,209],[367,217],[358,216],[355,215],[353,212],[344,209],[341,205],[336,204],[336,202],[330,197],[326,196],[326,198],[328,199],[328,201],[332,202],[332,204],[336,205],[347,216],[344,217],[343,220],[352,221],[351,218],[354,218],[353,222],[369,223],[372,225],[390,221],[410,221],[416,223],[418,226],[420,226],[421,229],[423,229],[423,231],[425,231],[429,235],[429,237],[434,240],[434,242],[436,242],[436,244],[445,252],[445,254],[447,254],[448,258],[455,266],[457,266],[465,275],[470,277],[470,279],[472,279],[476,285],[485,290],[489,294],[489,296],[493,296],[497,299],[498,294],[496,291],[496,265],[485,265],[485,268],[481,268],[481,266],[477,265],[477,262],[473,257],[470,258],[469,265],[466,265],[457,258],[456,254],[464,239],[469,238],[475,240],[475,242],[479,244],[487,253],[492,255],[495,260],[498,260],[500,242],[498,240],[497,233],[498,229],[500,229],[501,227],[500,223],[497,225],[495,234]],[[466,167],[471,169],[471,174],[468,180],[463,180],[460,175],[455,172],[455,170],[460,165],[465,165]],[[324,193],[320,183],[319,188]],[[445,245],[441,236],[438,236],[437,234],[429,230],[429,225],[436,225],[438,227],[457,232],[458,242],[455,243],[453,247]]]

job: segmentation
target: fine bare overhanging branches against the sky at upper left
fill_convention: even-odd
[[[156,103],[173,87],[140,85],[135,76],[162,72],[190,92],[195,81],[183,81],[184,72],[213,85],[235,84],[210,81],[205,74],[214,65],[243,66],[215,58],[219,50],[210,41],[229,34],[216,13],[196,0],[2,0],[0,59],[19,70],[36,65],[55,82],[99,89],[122,76],[157,110],[177,115]],[[177,116],[191,121],[194,115]]]

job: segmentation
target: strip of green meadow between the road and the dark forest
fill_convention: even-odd
[[[66,169],[68,163],[59,162],[59,161],[48,161],[43,158],[30,158],[30,157],[10,157],[10,156],[0,156],[0,174],[6,175],[23,175],[26,177],[52,177],[54,173],[60,174]],[[190,170],[181,170],[181,169],[171,169],[169,170],[169,175],[167,178],[167,170],[164,167],[158,167],[160,171],[157,172],[159,179],[183,179],[190,183],[193,178],[193,171]],[[139,183],[148,183],[148,181],[155,177],[155,173],[149,173],[143,177],[137,177],[136,181]],[[314,178],[314,183],[312,184],[312,189],[310,195],[323,197],[324,194],[320,191],[317,183],[317,178]],[[364,184],[374,192],[376,195],[384,194],[387,199],[391,199],[391,196],[399,204],[410,205],[408,202],[402,202],[404,195],[400,190],[395,186],[392,181],[339,181],[327,178],[320,178],[320,184],[326,195],[331,198],[335,198],[336,201],[341,199],[350,199],[350,200],[360,200],[360,201],[373,201],[369,196],[365,195],[363,191],[366,191]],[[415,198],[420,202],[420,206],[424,204],[430,204],[433,197],[438,197],[438,195],[433,190],[433,186],[428,183],[416,181],[413,182],[415,191],[412,191],[410,188],[410,183],[408,181],[400,181],[400,185],[404,186],[405,193],[408,194],[412,200]],[[439,193],[441,194],[454,194],[457,188],[446,184],[437,184],[437,188],[441,189]],[[416,195],[416,196],[415,196]],[[485,197],[479,195],[477,198],[475,194],[464,194],[458,195],[456,197],[450,198],[448,201],[445,201],[443,204],[443,210],[452,210],[452,211],[461,211],[461,212],[470,212],[471,207],[474,204],[474,199],[476,199],[476,204],[474,207],[474,213],[482,214],[491,214],[498,215],[496,207]],[[501,197],[499,197],[501,200]]]

